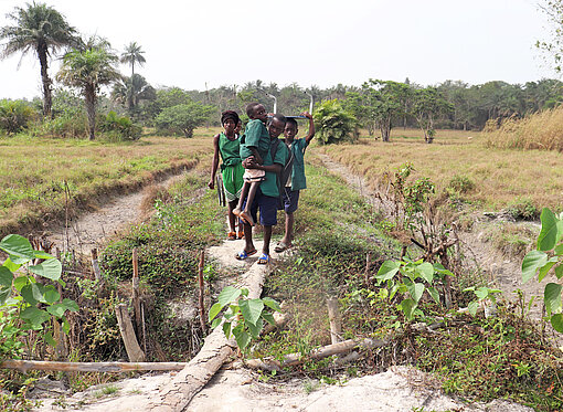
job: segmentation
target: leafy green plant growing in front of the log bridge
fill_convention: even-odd
[[[225,306],[227,309],[223,317],[216,317]],[[264,328],[264,321],[270,325],[276,324],[272,311],[266,308],[282,311],[279,304],[270,297],[251,299],[248,289],[226,286],[211,307],[209,321],[212,328],[223,324],[226,338],[229,339],[231,334],[234,335],[236,345],[242,350],[248,346],[251,338],[258,338]]]

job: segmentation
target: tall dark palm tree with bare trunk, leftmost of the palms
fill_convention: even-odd
[[[26,3],[25,8],[17,7],[7,17],[13,20],[15,25],[0,28],[0,40],[7,40],[0,59],[18,52],[22,53],[22,57],[30,52],[38,54],[43,83],[43,115],[51,117],[53,82],[47,74],[47,57],[62,47],[73,45],[76,30],[68,25],[59,11],[44,3],[33,2]]]

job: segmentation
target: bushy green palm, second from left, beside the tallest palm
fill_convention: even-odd
[[[66,53],[56,78],[70,87],[77,87],[84,96],[88,115],[89,139],[94,140],[96,128],[96,101],[99,87],[121,78],[117,71],[117,55],[109,43],[93,36],[79,49]]]

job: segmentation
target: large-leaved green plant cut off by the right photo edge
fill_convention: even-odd
[[[522,282],[527,283],[538,274],[542,282],[550,272],[557,279],[563,277],[563,213],[555,214],[544,208],[540,215],[542,229],[538,236],[535,251],[530,251],[522,262]],[[552,271],[553,270],[553,271]],[[561,294],[563,285],[549,283],[543,292],[543,302],[553,328],[563,334],[563,305]]]

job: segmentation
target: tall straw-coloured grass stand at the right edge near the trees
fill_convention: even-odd
[[[543,110],[523,119],[507,119],[486,134],[487,145],[563,151],[563,107]]]

